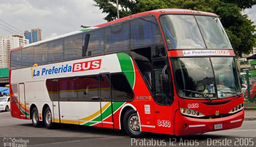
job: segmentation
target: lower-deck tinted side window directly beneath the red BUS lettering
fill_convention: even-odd
[[[78,100],[99,100],[97,76],[77,78]]]

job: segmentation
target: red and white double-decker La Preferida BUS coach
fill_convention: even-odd
[[[152,10],[10,51],[11,115],[189,135],[244,120],[234,51],[216,14]]]

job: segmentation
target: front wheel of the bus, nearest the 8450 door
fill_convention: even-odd
[[[124,131],[134,138],[144,137],[146,132],[140,131],[140,120],[137,112],[133,109],[128,110],[124,114],[123,121]]]

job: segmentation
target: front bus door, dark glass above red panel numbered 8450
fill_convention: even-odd
[[[173,98],[170,96],[168,91],[170,85],[168,83],[171,79],[168,77],[170,74],[167,73],[167,65],[160,66],[164,64],[163,61],[155,61],[154,64],[154,79],[155,79],[155,89],[156,95],[154,96],[154,114],[155,114],[155,124],[156,133],[166,133],[173,132]],[[167,84],[167,85],[166,85]],[[166,91],[167,90],[167,91]],[[168,94],[168,96],[167,96]]]

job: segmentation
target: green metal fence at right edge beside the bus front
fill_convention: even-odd
[[[241,69],[244,108],[256,109],[256,69]]]

